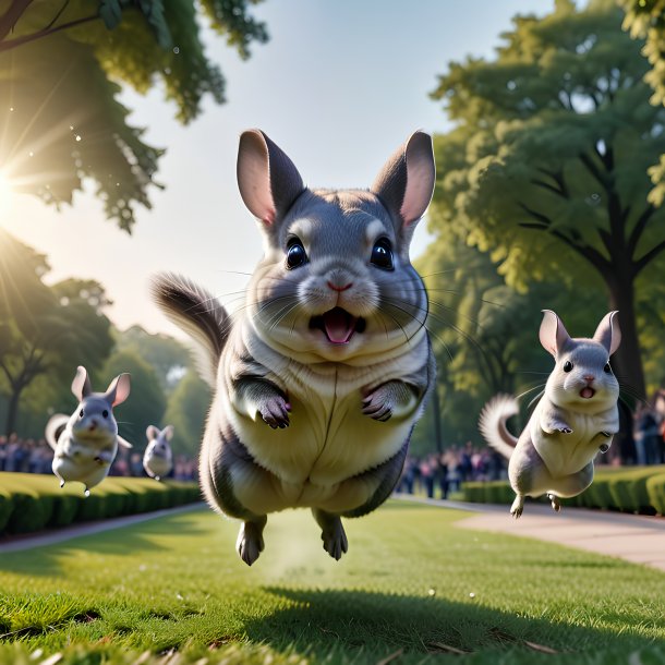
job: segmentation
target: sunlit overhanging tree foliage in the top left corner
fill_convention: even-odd
[[[119,83],[146,93],[160,83],[186,123],[225,80],[200,38],[202,20],[242,58],[266,41],[249,13],[257,0],[8,0],[0,7],[0,172],[14,190],[60,206],[84,178],[106,215],[131,232],[135,204],[164,150],[126,123]]]

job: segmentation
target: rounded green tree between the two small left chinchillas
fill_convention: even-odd
[[[147,444],[145,431],[148,425],[161,422],[166,397],[155,370],[130,351],[114,351],[102,370],[94,375],[93,388],[106,390],[111,380],[123,372],[131,375],[131,392],[126,401],[114,409],[114,414],[120,435],[133,444],[135,452],[138,452]]]

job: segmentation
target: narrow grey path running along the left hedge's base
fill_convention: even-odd
[[[97,522],[86,522],[83,524],[73,524],[62,529],[52,529],[43,531],[37,534],[26,533],[25,535],[14,535],[7,540],[0,539],[0,555],[5,552],[20,552],[22,549],[32,549],[33,547],[43,547],[45,545],[53,545],[62,543],[80,535],[90,535],[92,533],[100,533],[110,531],[111,529],[120,529],[129,524],[137,524],[146,522],[158,517],[178,515],[179,512],[189,512],[191,510],[203,510],[205,504],[188,504],[178,508],[165,508],[164,510],[155,510],[153,512],[141,512],[138,515],[129,515],[126,517],[117,517],[108,520],[99,520]]]

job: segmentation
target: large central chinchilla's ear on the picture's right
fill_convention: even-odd
[[[418,131],[384,165],[372,191],[412,233],[432,201],[435,178],[432,137]]]

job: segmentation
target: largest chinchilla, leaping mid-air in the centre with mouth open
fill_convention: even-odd
[[[307,507],[339,559],[342,517],[390,495],[435,378],[427,297],[409,261],[432,198],[432,140],[415,132],[371,190],[312,190],[258,130],[238,155],[241,196],[265,254],[233,317],[188,279],[161,275],[164,312],[207,349],[214,397],[200,458],[210,506],[242,520],[252,565],[267,513]]]

